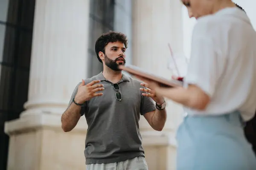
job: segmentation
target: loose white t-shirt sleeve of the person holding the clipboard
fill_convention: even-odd
[[[212,39],[213,31],[207,31],[205,24],[207,23],[197,24],[193,31],[191,55],[185,82],[186,84],[197,85],[208,96],[212,97],[225,62],[221,55],[221,49]]]

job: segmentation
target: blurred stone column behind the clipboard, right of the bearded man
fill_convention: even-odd
[[[182,4],[179,0],[134,0],[133,2],[133,63],[167,79],[172,72],[167,63],[168,43],[174,52],[183,50]],[[151,169],[175,169],[175,132],[182,108],[167,101],[168,118],[162,132],[154,131],[145,119],[140,129],[145,156]]]

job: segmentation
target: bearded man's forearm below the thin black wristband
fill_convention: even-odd
[[[72,103],[61,116],[61,127],[64,132],[71,131],[79,121],[81,106]]]

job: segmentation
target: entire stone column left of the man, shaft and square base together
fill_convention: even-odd
[[[87,78],[90,0],[36,0],[29,97],[17,120],[6,122],[8,170],[85,169],[84,117],[61,130],[61,113]]]

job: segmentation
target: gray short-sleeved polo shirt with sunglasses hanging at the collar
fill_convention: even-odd
[[[85,84],[101,80],[105,90],[103,95],[85,102],[81,115],[85,115],[88,129],[84,155],[86,164],[113,163],[144,156],[139,129],[140,114],[155,110],[154,101],[142,95],[140,82],[122,75],[118,82],[122,100],[116,99],[113,84],[105,79],[102,72]],[[81,82],[79,83],[81,84]],[[71,99],[76,96],[76,86]]]

